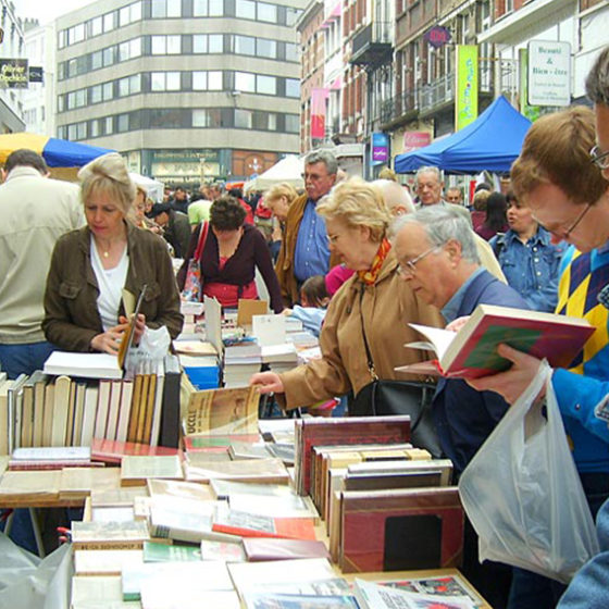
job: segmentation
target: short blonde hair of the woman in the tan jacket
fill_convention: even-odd
[[[320,215],[341,220],[348,226],[368,226],[371,240],[377,243],[385,237],[391,221],[381,189],[359,177],[337,184],[315,210]]]

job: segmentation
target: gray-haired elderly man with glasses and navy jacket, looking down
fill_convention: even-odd
[[[394,226],[398,272],[417,296],[440,310],[447,323],[481,303],[527,309],[524,299],[480,264],[474,232],[451,207],[425,208],[400,216]],[[462,380],[440,378],[433,414],[443,450],[457,477],[493,432],[508,403]],[[463,573],[493,607],[505,607],[511,569],[477,560],[477,538],[465,527]]]

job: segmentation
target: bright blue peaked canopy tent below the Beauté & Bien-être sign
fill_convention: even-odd
[[[497,98],[473,123],[395,160],[397,173],[433,165],[448,173],[509,172],[520,154],[531,121],[504,97]]]

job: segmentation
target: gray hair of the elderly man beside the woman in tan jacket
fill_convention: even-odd
[[[450,207],[430,206],[414,213],[400,215],[391,225],[391,235],[397,235],[407,224],[419,224],[425,229],[431,246],[444,246],[450,240],[461,244],[461,254],[469,262],[480,264],[475,233],[467,219]]]

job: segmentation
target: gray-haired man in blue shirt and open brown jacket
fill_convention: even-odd
[[[285,221],[275,271],[287,307],[298,302],[300,286],[313,275],[326,275],[339,260],[331,258],[325,222],[318,201],[336,182],[338,163],[330,150],[315,150],[304,160],[307,192],[291,203]]]

